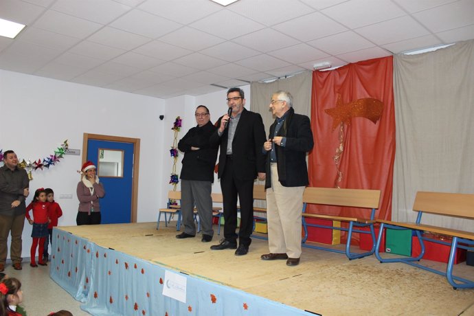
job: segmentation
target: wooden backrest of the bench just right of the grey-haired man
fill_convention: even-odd
[[[379,208],[380,190],[306,188],[303,202],[311,204]]]

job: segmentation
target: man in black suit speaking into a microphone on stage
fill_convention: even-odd
[[[253,181],[264,179],[265,161],[262,144],[265,131],[262,117],[244,109],[244,91],[227,91],[227,106],[232,113],[223,115],[211,136],[212,146],[220,146],[218,177],[221,179],[224,207],[224,238],[212,250],[237,249],[236,256],[249,251],[253,229]],[[237,196],[240,201],[240,229],[237,227]],[[239,239],[237,248],[237,237]]]

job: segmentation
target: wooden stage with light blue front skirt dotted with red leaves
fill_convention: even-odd
[[[222,235],[215,234],[214,240],[207,243],[201,242],[201,234],[179,240],[175,238],[179,234],[175,223],[168,227],[160,225],[158,230],[155,227],[156,223],[56,227],[54,249],[57,252],[52,259],[52,278],[84,302],[82,308],[93,315],[132,315],[117,312],[133,306],[133,302],[128,302],[132,294],[107,286],[113,288],[110,284],[117,284],[115,287],[129,289],[130,293],[139,292],[141,286],[148,285],[137,284],[136,275],[146,275],[153,267],[192,277],[192,281],[188,280],[190,287],[192,282],[201,282],[197,285],[198,291],[188,292],[188,298],[202,294],[202,300],[186,302],[184,314],[182,303],[169,302],[173,300],[170,297],[157,299],[156,305],[148,302],[161,295],[156,293],[161,291],[157,287],[146,292],[148,310],[142,308],[143,304],[135,303],[133,315],[165,315],[161,311],[168,315],[474,315],[474,290],[454,291],[446,278],[407,264],[381,264],[375,256],[348,260],[340,253],[303,248],[300,265],[286,267],[284,260],[260,260],[260,255],[268,253],[267,240],[253,238],[247,256],[234,256],[234,250],[210,250],[210,245],[218,243]],[[111,258],[115,253],[118,259]],[[65,260],[69,261],[69,257],[72,262],[68,266]],[[95,267],[104,258],[111,262]],[[138,267],[135,263],[135,276],[117,276],[118,272],[113,270],[119,269],[115,266],[133,270],[135,259],[126,258],[136,258],[139,262]],[[131,267],[124,261],[131,262]],[[425,264],[443,266],[427,260]],[[81,269],[84,269],[82,274]],[[455,271],[472,277],[473,268],[462,262]],[[150,278],[156,277],[162,284],[159,272],[155,274]],[[91,284],[94,275],[96,284]],[[155,282],[153,286],[159,284]],[[210,291],[223,291],[219,292],[222,297],[212,298],[205,286],[214,286]],[[107,293],[106,300],[100,303],[102,293]],[[246,294],[249,297],[245,297]],[[234,309],[230,307],[234,302],[226,303],[221,310],[216,307],[231,296],[233,300],[244,297],[245,303],[236,303],[238,308]],[[215,300],[218,302],[213,302]],[[257,300],[263,304],[259,308],[256,308],[260,304]],[[119,302],[120,308],[117,307]],[[112,312],[108,308],[115,309]],[[275,308],[281,313],[275,314]],[[150,312],[152,310],[160,313]]]

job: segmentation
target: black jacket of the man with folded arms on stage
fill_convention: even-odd
[[[207,122],[204,126],[191,128],[178,143],[178,149],[184,153],[181,161],[180,178],[214,182],[214,165],[216,164],[217,148],[211,148],[209,138],[216,131],[216,126]],[[191,150],[199,147],[199,150]]]

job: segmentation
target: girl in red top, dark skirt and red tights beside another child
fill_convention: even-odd
[[[48,212],[49,203],[46,201],[46,192],[45,189],[39,188],[34,192],[34,197],[32,203],[26,207],[26,218],[28,223],[33,225],[32,229],[32,249],[31,254],[31,263],[30,266],[33,268],[38,267],[35,260],[36,247],[38,247],[38,264],[41,266],[47,266],[46,262],[43,262],[43,251],[45,247],[45,239],[48,236],[47,225],[49,225],[49,212]],[[34,221],[30,217],[30,210],[33,210]]]

